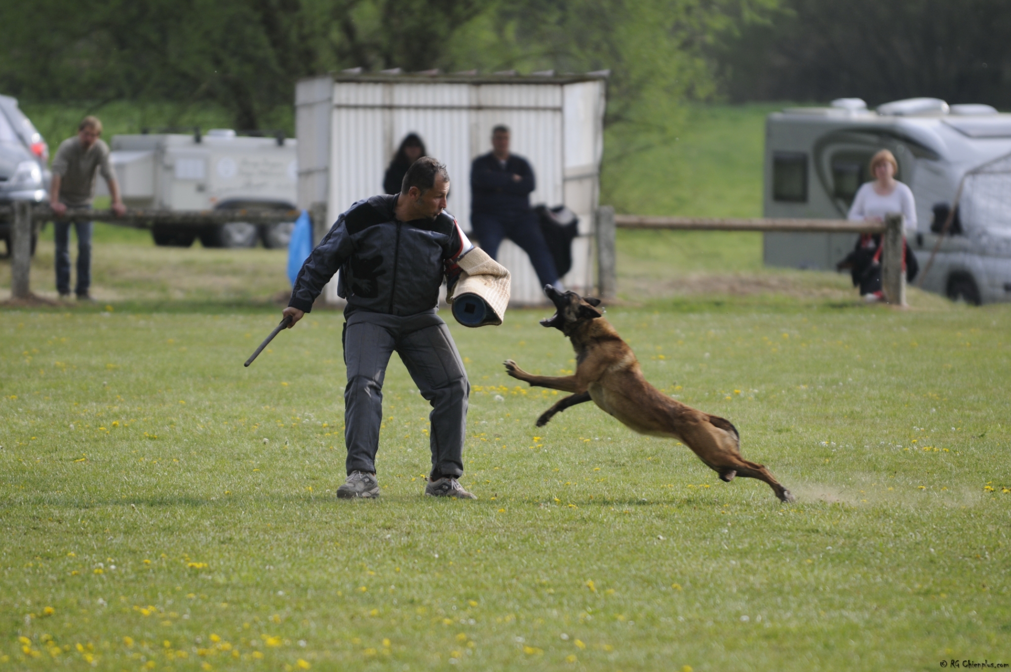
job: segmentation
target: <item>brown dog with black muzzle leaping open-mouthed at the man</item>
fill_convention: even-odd
[[[572,341],[576,369],[574,375],[534,375],[512,359],[505,360],[505,370],[515,379],[572,393],[545,411],[537,419],[538,427],[570,406],[592,401],[640,434],[677,439],[722,481],[730,482],[735,476],[758,479],[767,483],[780,501],[795,501],[767,469],[741,457],[740,435],[729,421],[685,406],[646,382],[632,348],[596,310],[600,299],[583,299],[574,291],[562,293],[551,285],[544,291],[557,312],[541,324],[555,327]]]

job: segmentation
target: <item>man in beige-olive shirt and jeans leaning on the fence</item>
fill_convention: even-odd
[[[60,144],[53,159],[53,182],[50,185],[50,206],[57,216],[68,207],[91,207],[95,196],[95,173],[100,172],[109,185],[112,209],[116,215],[126,212],[119,197],[116,174],[109,164],[109,146],[99,140],[102,122],[86,116],[77,129],[77,136]],[[63,299],[70,298],[70,227],[77,230],[77,298],[91,301],[91,222],[57,222],[57,290]]]

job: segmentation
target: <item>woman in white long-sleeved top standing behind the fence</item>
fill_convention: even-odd
[[[882,150],[870,159],[872,182],[860,185],[849,208],[848,219],[856,222],[884,222],[889,213],[901,213],[906,219],[906,234],[916,233],[916,201],[912,190],[895,179],[899,163],[888,150]],[[840,264],[852,266],[853,284],[860,287],[860,295],[868,301],[882,299],[881,286],[881,235],[861,234],[856,248]],[[916,257],[906,245],[903,237],[903,270],[907,280],[916,276]],[[847,263],[848,262],[848,263]]]

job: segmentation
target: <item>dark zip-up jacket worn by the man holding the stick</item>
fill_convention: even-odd
[[[337,218],[302,264],[288,306],[308,313],[338,270],[338,295],[356,310],[406,317],[439,304],[443,278],[460,274],[456,259],[470,247],[452,215],[398,222],[397,194],[359,200]]]

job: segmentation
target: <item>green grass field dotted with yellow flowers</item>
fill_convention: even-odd
[[[639,176],[680,175],[680,200],[644,189],[626,212],[757,215],[764,112],[693,113]],[[682,193],[721,174],[726,198]],[[547,310],[451,325],[480,499],[422,495],[428,407],[394,357],[382,497],[345,502],[342,316],[242,366],[285,259],[98,225],[99,303],[0,309],[0,672],[1011,663],[1011,307],[911,288],[896,312],[848,276],[762,268],[757,236],[620,232],[608,319],[796,504],[589,404],[536,429],[558,397],[501,361],[573,368]]]

